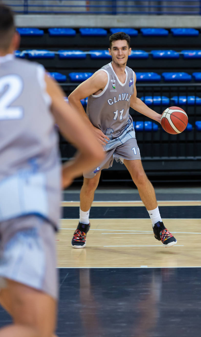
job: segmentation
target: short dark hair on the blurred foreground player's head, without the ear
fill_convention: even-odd
[[[0,49],[7,49],[15,32],[14,15],[11,9],[0,4]]]

